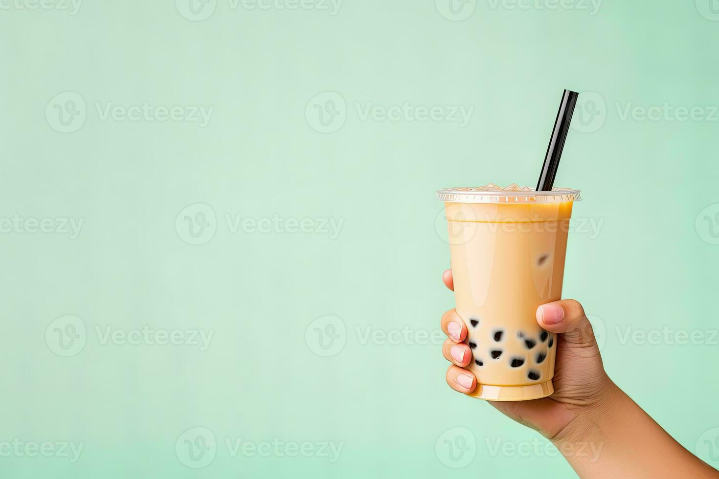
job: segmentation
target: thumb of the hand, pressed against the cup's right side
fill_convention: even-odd
[[[537,308],[536,317],[545,330],[563,333],[569,348],[597,348],[592,324],[577,300],[562,299],[542,304]]]

